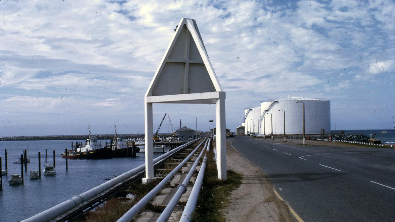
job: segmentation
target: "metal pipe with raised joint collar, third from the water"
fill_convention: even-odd
[[[171,198],[171,200],[167,204],[166,208],[162,211],[162,214],[160,214],[160,216],[159,216],[158,220],[156,220],[156,222],[166,222],[169,219],[171,213],[173,213],[173,210],[174,210],[175,206],[177,205],[179,199],[181,198],[182,194],[185,194],[185,192],[186,192],[186,186],[188,186],[188,182],[191,180],[192,175],[195,172],[195,169],[199,164],[199,160],[200,160],[201,156],[203,156],[203,152],[205,151],[205,149],[207,147],[207,142],[208,141],[206,141],[206,144],[204,145],[203,149],[201,150],[198,158],[196,158],[194,164],[192,165],[190,171],[188,172],[188,175],[186,175],[186,177],[182,181],[182,183],[177,186],[176,193]]]

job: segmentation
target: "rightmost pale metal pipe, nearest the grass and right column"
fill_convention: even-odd
[[[204,171],[206,169],[206,161],[207,156],[205,155],[203,158],[203,163],[200,166],[198,177],[196,177],[194,187],[192,188],[191,194],[189,195],[188,201],[186,202],[186,205],[184,207],[184,211],[182,212],[180,222],[191,221],[192,213],[195,211],[196,203],[198,202],[199,192],[204,177]]]

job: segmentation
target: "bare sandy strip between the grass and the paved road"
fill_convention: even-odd
[[[262,171],[226,144],[227,165],[243,176],[241,186],[229,199],[231,204],[223,212],[229,222],[290,222],[296,221],[288,205],[276,197],[273,186]]]

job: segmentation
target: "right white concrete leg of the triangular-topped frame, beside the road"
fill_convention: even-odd
[[[220,93],[216,101],[216,159],[218,179],[226,180],[226,128],[225,128],[225,92]]]

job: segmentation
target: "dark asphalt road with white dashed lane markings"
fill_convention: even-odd
[[[227,139],[305,222],[395,221],[395,149]],[[286,143],[284,143],[286,144]]]

